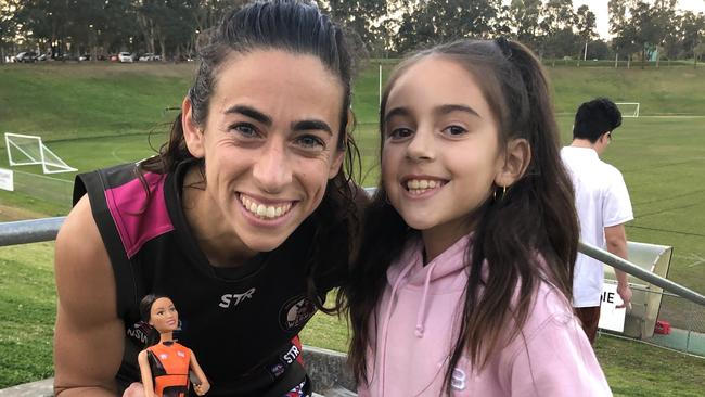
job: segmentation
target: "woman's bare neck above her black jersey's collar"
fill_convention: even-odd
[[[206,193],[198,167],[183,178],[181,206],[191,233],[208,261],[217,267],[236,267],[257,253],[242,243],[234,230],[223,222],[218,204]]]

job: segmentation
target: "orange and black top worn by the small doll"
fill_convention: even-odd
[[[191,362],[191,350],[188,347],[174,343],[159,343],[146,348],[156,359],[150,360],[152,377],[154,379],[154,393],[164,396],[168,387],[183,387],[184,396],[189,389],[189,363]],[[168,392],[168,390],[167,390]]]

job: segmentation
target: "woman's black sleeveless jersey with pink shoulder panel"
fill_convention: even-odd
[[[306,377],[296,344],[315,312],[306,298],[306,264],[316,217],[277,249],[238,268],[215,268],[181,208],[187,168],[140,177],[128,164],[76,178],[74,202],[88,193],[117,284],[118,316],[126,326],[118,384],[140,381],[137,354],[145,347],[146,332],[138,306],[156,293],[175,303],[180,322],[175,338],[195,354],[211,384],[208,396],[282,396]],[[342,282],[345,271],[337,268],[347,268],[319,264],[325,266],[326,280],[317,281],[322,298]]]

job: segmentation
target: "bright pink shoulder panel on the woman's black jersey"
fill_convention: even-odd
[[[131,258],[148,241],[174,230],[164,200],[164,175],[146,172],[150,196],[139,179],[105,191],[127,257]]]

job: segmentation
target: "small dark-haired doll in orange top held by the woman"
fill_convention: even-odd
[[[138,355],[145,397],[184,397],[189,392],[189,370],[198,379],[193,389],[198,396],[208,393],[210,384],[190,348],[174,342],[179,326],[179,312],[166,296],[150,294],[140,302],[142,320],[158,332],[155,344]]]

